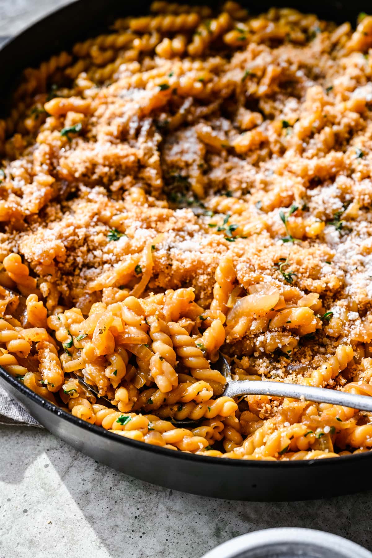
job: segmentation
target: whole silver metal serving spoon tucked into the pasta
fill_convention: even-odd
[[[220,353],[219,359],[214,363],[214,368],[221,372],[226,378],[225,391],[221,394],[227,397],[240,397],[242,395],[274,395],[279,397],[291,397],[293,399],[301,399],[304,401],[315,401],[316,403],[332,403],[332,405],[341,405],[343,407],[351,407],[360,411],[372,411],[372,397],[368,395],[356,395],[355,393],[347,393],[344,391],[336,391],[335,389],[326,389],[322,387],[301,386],[298,384],[284,382],[270,382],[259,380],[233,380],[231,378],[231,369],[228,361],[223,354]],[[95,397],[99,397],[94,389],[84,382],[79,376],[79,382],[94,393]],[[105,397],[101,397],[105,403],[112,403]],[[114,407],[116,408],[116,407]],[[203,419],[191,420],[171,419],[173,424],[179,426],[196,426]]]

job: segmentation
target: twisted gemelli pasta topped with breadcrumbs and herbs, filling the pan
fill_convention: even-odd
[[[372,395],[371,80],[372,16],[232,1],[153,2],[26,69],[0,121],[1,367],[174,451],[369,451],[371,413],[234,400],[216,362]]]

